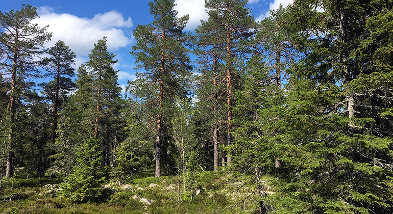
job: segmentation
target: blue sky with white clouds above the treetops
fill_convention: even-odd
[[[284,6],[292,0],[249,0],[248,7],[256,20],[268,15],[268,11]],[[127,80],[135,78],[135,59],[130,56],[135,43],[132,31],[138,24],[153,21],[149,12],[149,1],[84,1],[84,0],[12,0],[2,1],[0,11],[19,10],[22,4],[36,6],[40,18],[39,25],[49,25],[48,31],[53,33],[52,41],[45,44],[53,46],[59,39],[63,40],[77,54],[76,65],[88,60],[88,53],[94,42],[103,36],[108,37],[108,49],[116,54],[118,63],[114,66],[119,70],[119,85],[124,88]],[[204,0],[176,0],[175,9],[179,15],[189,14],[186,30],[192,31],[206,19]]]

